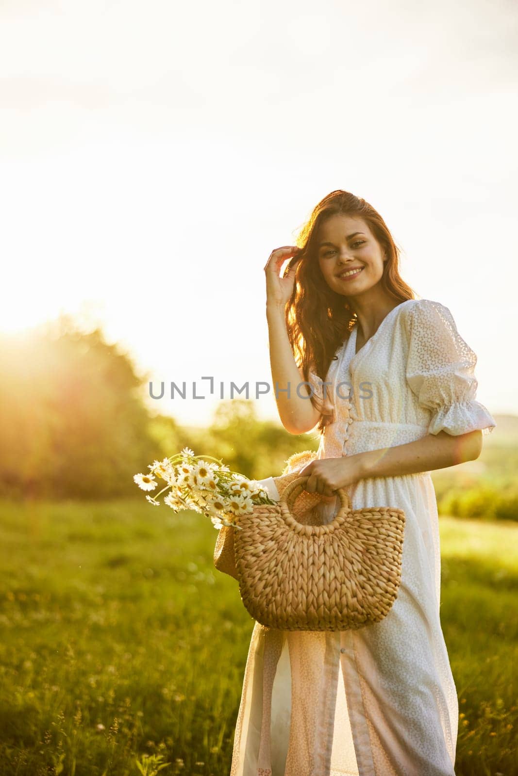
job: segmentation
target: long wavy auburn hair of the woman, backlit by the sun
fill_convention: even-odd
[[[388,295],[397,303],[415,299],[414,291],[399,275],[399,248],[377,210],[365,199],[341,189],[321,199],[296,238],[295,244],[301,251],[293,261],[300,261],[296,264],[294,289],[285,310],[291,349],[307,381],[311,369],[325,382],[337,348],[349,338],[356,324],[356,313],[342,294],[329,288],[318,264],[319,227],[336,214],[361,217],[367,223],[387,255],[380,282]],[[318,432],[322,433],[332,421],[329,405],[322,406],[316,395],[311,396],[311,404],[322,412],[317,426]]]

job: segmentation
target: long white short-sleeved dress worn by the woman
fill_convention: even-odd
[[[441,429],[460,435],[495,427],[475,400],[477,357],[442,304],[398,304],[355,351],[356,326],[326,377],[334,417],[319,458],[404,445]],[[311,374],[311,382],[322,397],[322,381]],[[278,498],[272,478],[262,481]],[[457,691],[440,623],[430,472],[373,477],[346,490],[353,509],[405,511],[398,598],[381,622],[352,631],[290,632],[256,622],[230,776],[454,774]],[[330,522],[339,499],[320,506]]]

